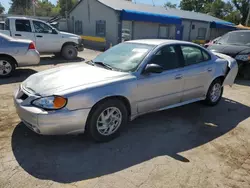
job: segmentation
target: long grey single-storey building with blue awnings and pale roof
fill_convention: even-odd
[[[103,37],[115,45],[142,38],[204,41],[236,27],[208,14],[129,0],[81,0],[69,13],[69,29],[79,35]]]

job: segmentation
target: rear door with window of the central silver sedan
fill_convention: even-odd
[[[203,98],[206,96],[208,83],[213,79],[215,63],[202,48],[194,45],[181,45],[184,58],[184,90],[181,101]]]

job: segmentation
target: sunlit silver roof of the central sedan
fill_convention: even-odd
[[[179,41],[179,40],[169,40],[169,39],[139,39],[139,40],[130,40],[127,43],[138,43],[138,44],[148,44],[148,45],[162,45],[162,44],[192,44],[192,42]]]

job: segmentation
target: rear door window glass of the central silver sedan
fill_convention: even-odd
[[[198,64],[210,59],[210,55],[195,46],[181,46],[185,66]]]

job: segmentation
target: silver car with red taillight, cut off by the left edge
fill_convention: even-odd
[[[0,33],[0,77],[8,77],[16,67],[36,65],[39,52],[31,40],[14,39]]]

